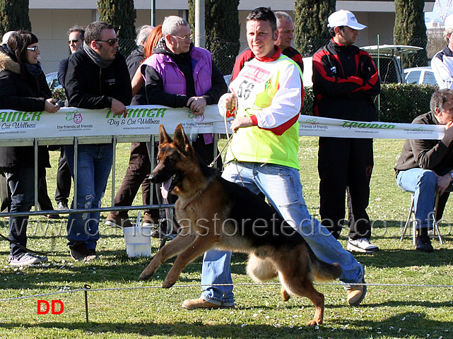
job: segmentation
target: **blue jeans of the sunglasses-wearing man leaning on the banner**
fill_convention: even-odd
[[[74,177],[74,147],[64,147],[66,160]],[[112,169],[111,143],[78,145],[77,209],[100,208],[107,180]],[[71,204],[73,208],[73,203]],[[88,249],[96,249],[99,239],[100,212],[73,213],[68,218],[68,244],[84,242]]]

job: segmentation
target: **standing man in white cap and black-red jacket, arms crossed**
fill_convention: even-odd
[[[370,54],[353,43],[367,26],[350,11],[329,16],[332,39],[313,56],[313,112],[319,117],[375,121],[373,99],[380,93],[380,79]],[[371,225],[366,208],[370,198],[373,165],[372,139],[319,138],[318,172],[322,225],[337,239],[345,223],[346,187],[353,218],[349,220],[349,251],[373,253]]]

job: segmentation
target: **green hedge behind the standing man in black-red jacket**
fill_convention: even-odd
[[[437,86],[391,83],[381,85],[380,121],[411,122],[420,114],[429,112],[431,95]],[[377,97],[375,105],[377,105]],[[305,87],[302,114],[312,115],[313,90]]]

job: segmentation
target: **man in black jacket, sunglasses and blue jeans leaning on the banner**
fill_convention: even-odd
[[[112,25],[95,21],[85,31],[83,47],[69,57],[64,88],[71,107],[110,108],[127,115],[132,88],[124,57],[118,52]],[[73,176],[74,147],[65,146]],[[98,208],[112,168],[112,144],[78,145],[77,209]],[[100,213],[74,213],[68,218],[68,240],[74,260],[96,258]]]

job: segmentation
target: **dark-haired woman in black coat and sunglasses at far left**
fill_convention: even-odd
[[[40,55],[37,37],[30,32],[14,32],[0,47],[0,109],[20,112],[57,112],[57,100],[37,61]],[[28,212],[35,201],[35,151],[33,146],[0,147],[0,169],[11,189],[11,213]],[[38,171],[49,167],[47,146],[38,147]],[[39,181],[38,181],[39,184]],[[38,188],[39,189],[39,188]],[[9,218],[11,266],[27,266],[47,261],[25,250],[28,217]]]

